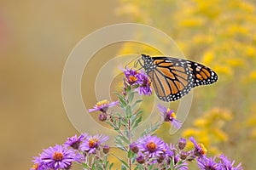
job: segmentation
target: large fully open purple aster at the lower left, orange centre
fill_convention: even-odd
[[[59,144],[44,150],[40,157],[42,163],[49,167],[47,169],[69,169],[73,161],[80,160],[80,156],[76,155],[73,150]]]

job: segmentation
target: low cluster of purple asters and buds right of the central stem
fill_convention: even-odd
[[[137,155],[137,163],[147,167],[154,164],[160,169],[187,170],[189,161],[197,161],[201,170],[242,170],[241,164],[234,167],[235,161],[230,161],[226,156],[207,158],[207,150],[203,144],[195,142],[193,150],[184,150],[187,144],[186,139],[179,139],[177,144],[166,144],[162,139],[146,135],[137,142],[130,144],[130,150]],[[172,163],[171,163],[172,161]],[[167,165],[167,167],[166,167]],[[172,165],[173,167],[169,167]]]

